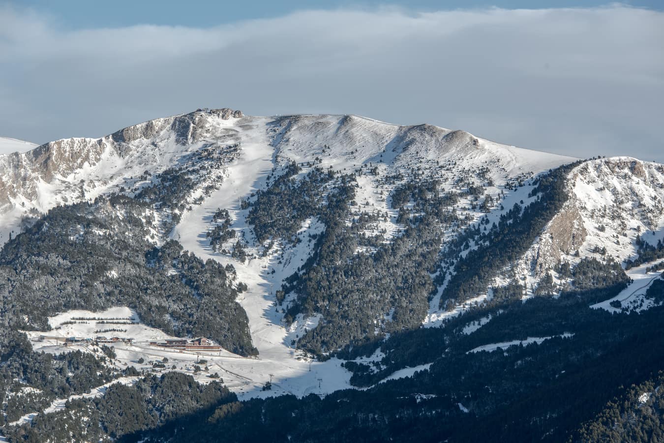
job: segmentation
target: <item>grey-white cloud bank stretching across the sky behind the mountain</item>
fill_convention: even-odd
[[[0,7],[0,135],[98,137],[169,114],[361,114],[664,162],[664,13],[303,11],[207,29],[60,29]]]

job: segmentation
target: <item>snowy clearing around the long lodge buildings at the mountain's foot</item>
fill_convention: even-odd
[[[72,320],[77,318],[88,318],[88,320]],[[272,359],[264,357],[248,358],[236,355],[222,349],[221,351],[183,351],[179,349],[166,349],[155,347],[149,341],[177,338],[171,337],[159,329],[147,327],[141,323],[135,324],[112,324],[95,323],[92,319],[112,321],[110,319],[132,318],[137,321],[138,317],[129,308],[112,308],[103,312],[90,312],[83,310],[60,313],[49,318],[52,331],[40,332],[29,331],[28,335],[33,341],[33,347],[37,351],[48,353],[63,353],[80,350],[102,355],[99,347],[94,342],[78,341],[67,343],[67,338],[86,339],[98,335],[106,337],[131,338],[131,343],[118,341],[116,343],[103,343],[114,348],[116,359],[112,365],[118,369],[133,366],[143,373],[164,373],[177,371],[192,375],[199,383],[208,383],[213,379],[209,377],[217,373],[224,381],[224,385],[236,393],[240,399],[251,397],[267,397],[290,393],[293,395],[307,395],[309,393],[325,394],[337,389],[350,387],[348,380],[350,373],[341,368],[340,361],[331,359],[325,363],[308,361],[307,359],[295,358],[294,349],[285,347],[286,350],[280,355],[273,353]],[[74,321],[75,323],[70,323]],[[68,324],[62,324],[68,323]],[[310,327],[313,327],[309,323]],[[127,329],[127,331],[110,331],[108,333],[95,333],[96,327],[108,327],[114,329]],[[284,328],[281,327],[283,330]],[[259,336],[269,334],[259,333]],[[43,337],[42,337],[43,336]],[[101,344],[101,343],[100,343]],[[282,357],[282,359],[279,359]],[[142,359],[142,361],[141,361]],[[155,361],[163,362],[164,369],[153,367]],[[141,362],[141,363],[139,363]],[[201,367],[201,371],[195,371],[195,366]],[[272,379],[272,390],[262,391],[265,383]],[[318,379],[322,379],[319,381]],[[103,393],[100,391],[100,393]]]

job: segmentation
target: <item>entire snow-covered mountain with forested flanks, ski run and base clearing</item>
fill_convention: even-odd
[[[664,286],[662,240],[664,165],[580,160],[428,124],[202,109],[0,154],[3,321],[32,329],[33,348],[54,354],[66,337],[116,335],[107,369],[129,386],[128,368],[154,372],[161,361],[209,383],[193,369],[201,355],[150,343],[209,329],[229,347],[207,354],[206,369],[240,400],[412,377],[424,380],[418,391],[396,399],[440,396],[452,401],[446,414],[487,413],[500,404],[491,381],[479,383],[488,394],[456,392],[448,368],[461,386],[467,368],[501,368],[501,356],[515,358],[505,366],[515,374],[528,368],[537,354],[519,357],[524,347],[566,349],[574,362],[594,355],[585,348],[602,324],[596,353],[605,352],[607,311],[638,328],[627,313],[661,310],[651,288]],[[224,291],[209,287],[210,270]],[[195,317],[205,303],[224,325]],[[108,315],[129,326],[88,323],[118,321]],[[657,324],[648,315],[647,327]],[[70,349],[102,353],[88,342]],[[434,383],[418,373],[445,387],[423,394]],[[42,399],[43,414],[103,395],[108,381],[98,385]],[[27,426],[28,412],[9,426]]]

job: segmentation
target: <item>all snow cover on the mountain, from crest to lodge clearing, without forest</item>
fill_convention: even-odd
[[[150,209],[154,213],[149,214],[149,219],[154,221],[150,226],[154,230],[149,241],[159,245],[171,238],[204,261],[215,260],[233,266],[237,281],[247,285],[247,290],[238,295],[237,301],[247,313],[258,356],[242,357],[225,349],[197,352],[155,347],[149,341],[175,337],[141,323],[135,311],[125,306],[95,313],[84,310],[58,313],[49,318],[50,331],[29,331],[28,335],[33,349],[38,351],[83,351],[98,355],[102,351],[92,343],[78,342],[64,347],[64,339],[91,338],[100,334],[132,339],[131,342],[108,344],[114,347],[117,356],[108,362],[109,365],[116,369],[133,366],[146,374],[178,371],[192,375],[199,383],[208,383],[212,380],[210,375],[218,374],[224,385],[241,400],[284,394],[323,396],[340,389],[355,388],[350,383],[351,372],[342,367],[341,360],[317,361],[298,347],[298,340],[307,331],[326,324],[325,312],[314,312],[309,317],[300,313],[292,324],[286,325],[283,306],[276,300],[277,291],[283,289],[284,279],[311,256],[311,238],[325,230],[323,217],[307,215],[309,218],[301,222],[296,240],[276,239],[269,250],[256,241],[252,226],[246,222],[249,209],[242,202],[256,191],[267,189],[270,181],[291,161],[301,168],[295,175],[296,180],[313,167],[352,173],[355,200],[351,203],[347,225],[362,213],[380,215],[367,225],[365,234],[380,233],[384,242],[391,242],[404,232],[404,225],[396,221],[398,211],[392,208],[392,191],[408,183],[436,180],[442,191],[460,196],[459,201],[446,211],[455,211],[463,221],[440,232],[440,246],[444,248],[463,232],[465,226],[478,226],[480,220],[490,226],[498,223],[501,215],[515,204],[523,207],[535,202],[538,197],[529,197],[529,193],[536,185],[537,175],[577,160],[501,145],[467,132],[427,124],[398,126],[351,115],[244,116],[226,108],[197,110],[130,126],[98,139],[62,139],[7,155],[1,154],[1,147],[0,246],[8,240],[10,232],[20,232],[22,226],[30,222],[30,217],[39,217],[56,205],[90,201],[110,193],[133,196],[146,185],[159,183],[159,173],[167,169],[186,173],[195,185],[187,191],[184,209],[177,209],[177,217],[171,217],[173,213],[167,212],[171,209],[154,205]],[[540,280],[550,273],[558,289],[563,289],[570,284],[570,278],[556,274],[555,269],[561,261],[574,266],[582,258],[592,256],[600,260],[616,258],[623,262],[635,258],[637,236],[651,244],[664,240],[663,165],[629,157],[593,159],[574,167],[568,174],[567,183],[569,199],[562,210],[544,227],[521,260],[507,266],[492,286],[508,284],[516,277],[527,286],[525,297],[531,297]],[[471,186],[481,187],[480,200],[485,195],[492,197],[488,213],[479,209],[477,195],[473,200],[469,192]],[[413,207],[412,201],[407,205]],[[228,211],[229,228],[236,232],[236,236],[213,250],[206,234],[218,226],[213,216],[220,209]],[[159,224],[169,217],[172,223]],[[238,240],[246,251],[246,260],[224,250],[232,249],[232,242]],[[461,248],[461,256],[478,247],[474,241],[470,239],[468,246]],[[575,254],[577,250],[578,256]],[[372,250],[364,246],[357,252],[371,253]],[[614,299],[592,308],[620,311],[615,307],[618,306],[616,301],[622,303],[623,311],[650,308],[653,302],[645,299],[643,294],[661,274],[646,272],[652,264],[631,268],[627,275],[633,278],[633,283]],[[450,271],[454,272],[454,268],[451,267]],[[435,278],[436,274],[431,277]],[[446,281],[449,278],[448,274]],[[429,310],[422,319],[424,327],[440,326],[446,319],[493,296],[493,290],[489,288],[485,294],[476,294],[461,304],[440,308],[445,284],[438,286],[438,293],[430,301]],[[287,298],[285,303],[290,300]],[[393,307],[385,315],[386,319],[391,319],[392,312]],[[378,315],[381,316],[379,320],[382,319],[383,313]],[[465,325],[459,324],[455,331],[477,337],[491,327],[486,327],[487,324],[495,325],[495,318],[499,315],[503,315],[503,311],[472,317],[473,320],[468,320]],[[110,326],[80,321],[80,317],[119,317],[131,321]],[[102,333],[104,328],[116,330]],[[477,333],[478,330],[481,332]],[[513,346],[544,343],[554,337],[574,339],[572,333],[553,334],[491,337],[480,342],[489,344],[477,346],[467,353],[502,352]],[[503,341],[505,339],[509,341]],[[389,355],[389,350],[378,347],[370,357],[359,357],[355,361],[371,368],[382,367],[372,363],[380,362],[386,353]],[[163,369],[151,364],[163,359],[167,359]],[[201,359],[207,362],[201,363]],[[203,371],[195,370],[197,365],[202,366]],[[413,377],[418,371],[428,371],[430,365],[432,363],[401,367],[386,375],[380,383]],[[135,379],[118,379],[112,383],[118,382],[131,384]],[[268,382],[272,389],[264,391]],[[110,384],[96,387],[84,395],[58,398],[47,404],[44,412],[61,410],[68,399],[104,395]],[[416,398],[420,402],[432,397],[435,395],[418,394]],[[469,412],[473,406],[465,400],[463,402],[468,408],[459,402],[459,409]],[[31,412],[20,421],[29,422],[34,416],[35,412]]]

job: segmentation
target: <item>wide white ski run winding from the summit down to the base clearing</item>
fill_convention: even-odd
[[[258,386],[272,379],[273,391],[261,392],[256,389],[238,392],[240,398],[292,393],[329,393],[337,389],[347,389],[350,373],[340,366],[337,359],[325,362],[309,362],[297,359],[294,347],[290,346],[291,335],[282,326],[282,313],[276,311],[274,283],[279,276],[268,274],[270,257],[250,258],[244,263],[224,254],[212,252],[205,233],[210,229],[210,221],[216,209],[228,209],[238,234],[252,238],[250,227],[246,225],[246,211],[240,209],[240,199],[264,187],[274,166],[274,147],[268,137],[269,119],[251,118],[248,124],[236,126],[242,136],[240,157],[228,167],[228,175],[221,187],[212,193],[201,205],[183,215],[181,222],[171,232],[171,238],[178,240],[185,250],[193,252],[203,260],[208,258],[221,264],[232,264],[238,280],[248,286],[238,302],[247,313],[254,346],[258,349],[258,359],[211,358],[220,369],[250,380]],[[244,122],[243,122],[244,123]],[[263,130],[261,130],[263,129]],[[274,283],[273,283],[274,282]],[[294,338],[294,337],[293,337]],[[318,379],[323,381],[319,383]],[[319,388],[319,385],[321,387]]]

